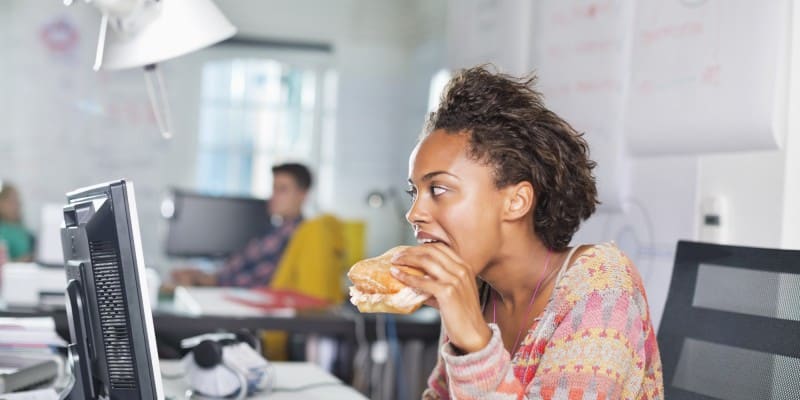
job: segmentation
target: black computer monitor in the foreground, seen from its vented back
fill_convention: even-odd
[[[63,210],[73,381],[62,398],[163,399],[133,184],[67,193]]]

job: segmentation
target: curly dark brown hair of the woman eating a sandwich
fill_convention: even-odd
[[[470,157],[494,166],[495,185],[533,185],[533,226],[545,246],[562,250],[582,220],[594,213],[597,186],[589,146],[566,121],[544,106],[532,86],[486,66],[456,74],[429,114],[423,131],[467,133]]]

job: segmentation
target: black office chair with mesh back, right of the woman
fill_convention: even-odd
[[[800,251],[678,242],[665,398],[800,399]]]

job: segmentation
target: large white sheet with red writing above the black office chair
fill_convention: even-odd
[[[636,3],[626,137],[634,155],[780,147],[787,0]]]

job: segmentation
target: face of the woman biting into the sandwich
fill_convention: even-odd
[[[413,202],[406,219],[417,241],[450,246],[480,273],[499,248],[503,198],[492,168],[468,157],[469,136],[433,131],[409,158]]]

